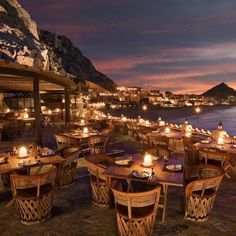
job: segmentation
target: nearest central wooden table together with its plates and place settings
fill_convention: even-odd
[[[151,155],[150,165],[145,165],[145,156],[141,154],[125,154],[122,157],[111,158],[105,154],[91,155],[86,158],[89,165],[103,168],[103,176],[112,180],[125,180],[127,191],[132,192],[133,183],[142,182],[148,185],[162,186],[162,222],[165,221],[168,188],[184,187],[184,163],[173,154],[169,159]]]

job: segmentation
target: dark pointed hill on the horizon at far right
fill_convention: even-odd
[[[236,90],[229,87],[225,83],[220,83],[216,85],[215,87],[207,90],[202,95],[205,97],[214,97],[214,98],[222,99],[228,96],[236,96]]]

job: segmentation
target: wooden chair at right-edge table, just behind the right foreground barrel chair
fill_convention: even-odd
[[[230,167],[229,153],[215,149],[202,149],[199,151],[199,158],[200,160],[204,160],[205,164],[211,164],[211,163],[219,164],[224,169],[227,178],[231,178],[229,173],[227,172]]]

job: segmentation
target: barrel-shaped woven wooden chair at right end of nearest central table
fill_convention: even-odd
[[[224,170],[214,165],[196,165],[186,170],[185,219],[205,221],[213,208]]]

